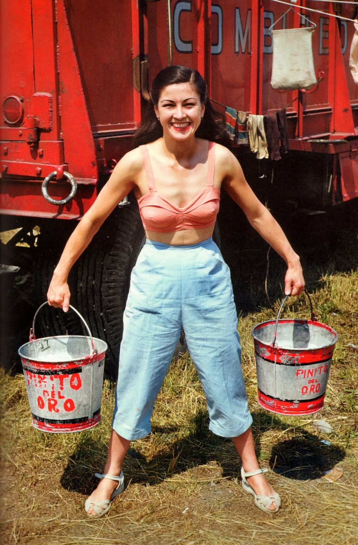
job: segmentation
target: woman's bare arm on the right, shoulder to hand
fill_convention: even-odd
[[[299,295],[305,289],[300,258],[292,249],[281,227],[270,211],[259,201],[248,185],[242,168],[229,150],[220,148],[219,168],[222,166],[223,187],[242,208],[250,225],[272,246],[287,264],[285,294]]]

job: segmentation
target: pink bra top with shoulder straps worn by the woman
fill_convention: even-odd
[[[159,195],[154,183],[154,175],[148,150],[140,146],[144,158],[149,193],[138,199],[139,213],[147,231],[170,232],[181,229],[202,229],[214,225],[219,211],[220,190],[214,186],[215,151],[214,142],[208,146],[208,182],[192,201],[178,207]]]

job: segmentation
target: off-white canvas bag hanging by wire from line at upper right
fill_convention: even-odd
[[[293,8],[288,11],[291,9]],[[307,89],[317,83],[312,52],[312,34],[316,25],[307,19],[311,27],[273,30],[282,17],[269,29],[273,46],[271,87],[273,89]],[[303,15],[301,17],[306,19]]]

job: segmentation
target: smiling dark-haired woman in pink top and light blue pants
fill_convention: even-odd
[[[146,244],[132,271],[123,315],[108,459],[104,473],[96,474],[100,482],[85,502],[86,513],[102,517],[122,492],[124,456],[130,441],[151,431],[153,405],[182,330],[205,392],[211,431],[234,441],[242,460],[242,486],[255,504],[277,512],[281,500],[255,455],[230,271],[212,239],[220,188],[286,261],[285,292],[293,295],[305,285],[299,256],[225,147],[229,135],[198,71],[168,66],[159,72],[148,116],[134,141],[138,147],[118,162],[69,238],[47,294],[50,305],[68,310],[71,266],[133,190]]]

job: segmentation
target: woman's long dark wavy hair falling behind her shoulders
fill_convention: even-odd
[[[181,65],[166,66],[154,77],[148,110],[139,128],[134,133],[133,146],[136,148],[142,144],[154,142],[154,140],[158,140],[158,138],[163,136],[163,127],[157,119],[154,105],[158,105],[159,96],[164,87],[174,83],[192,83],[200,96],[201,104],[205,106],[204,116],[195,132],[195,136],[218,142],[229,148],[230,137],[228,131],[225,129],[225,117],[212,107],[210,99],[207,96],[207,86],[204,79],[198,70]]]

